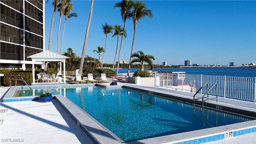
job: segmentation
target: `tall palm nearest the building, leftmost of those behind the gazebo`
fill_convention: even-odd
[[[46,2],[48,2],[49,0],[47,0]],[[60,3],[60,0],[53,0],[52,2],[52,6],[53,6],[53,14],[52,14],[52,24],[51,24],[51,28],[50,28],[50,36],[49,36],[49,43],[48,43],[48,50],[51,49],[51,43],[52,43],[52,29],[53,29],[53,24],[54,24],[54,17],[55,17],[55,12],[58,8],[58,5]],[[47,71],[47,66],[48,66],[48,62],[45,63],[45,68],[44,70]]]

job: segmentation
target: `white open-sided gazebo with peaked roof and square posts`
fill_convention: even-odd
[[[40,52],[37,54],[33,54],[28,56],[28,58],[32,59],[32,75],[33,75],[33,84],[35,84],[35,62],[63,62],[63,73],[64,73],[64,83],[66,83],[66,66],[65,60],[69,58],[67,56],[63,56],[62,54],[58,54],[56,52],[52,52],[50,50],[46,50],[44,52]],[[60,64],[60,73],[61,73],[61,64]]]

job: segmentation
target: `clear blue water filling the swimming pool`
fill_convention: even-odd
[[[34,94],[46,91],[66,96],[124,142],[251,120],[209,109],[202,116],[200,108],[193,113],[191,104],[124,88],[42,89]]]

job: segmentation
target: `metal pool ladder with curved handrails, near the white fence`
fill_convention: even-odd
[[[204,101],[206,100],[212,100],[212,99],[216,99],[216,102],[218,102],[218,84],[214,84],[212,87],[209,88],[209,84],[208,83],[205,83],[195,94],[194,94],[194,97],[193,97],[193,108],[195,110],[195,100],[199,100],[201,98],[195,98],[196,94],[198,94],[198,92],[200,92],[202,90],[202,88],[204,88],[205,86],[207,86],[207,92],[202,96],[202,115],[204,113]],[[212,90],[213,88],[216,88],[216,98],[209,98],[209,92],[210,90]],[[207,99],[205,99],[205,96],[207,94]]]

